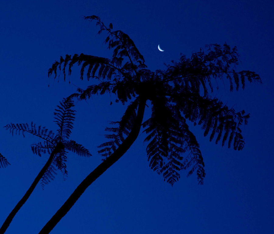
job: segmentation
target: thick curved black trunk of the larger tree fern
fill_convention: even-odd
[[[52,216],[47,224],[41,229],[39,234],[48,234],[57,225],[57,223],[63,218],[70,208],[75,204],[79,197],[83,194],[87,187],[89,187],[100,175],[102,175],[111,165],[117,162],[125,152],[130,148],[133,142],[139,135],[144,112],[146,107],[146,99],[140,99],[137,117],[132,131],[128,134],[128,137],[123,143],[117,148],[117,150],[109,156],[104,162],[102,162],[97,168],[93,170],[74,190],[67,201],[61,206],[61,208]]]

